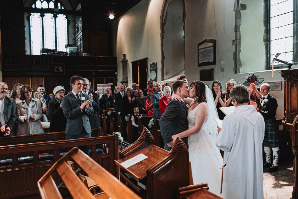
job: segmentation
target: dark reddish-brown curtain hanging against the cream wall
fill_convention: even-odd
[[[140,89],[147,88],[148,58],[132,61],[132,82],[139,84]],[[139,76],[139,79],[138,79]]]

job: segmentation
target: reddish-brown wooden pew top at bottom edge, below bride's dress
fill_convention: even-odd
[[[178,188],[177,199],[195,199],[195,198],[206,198],[206,199],[222,199],[221,197],[208,191],[209,187],[207,183],[184,186]]]

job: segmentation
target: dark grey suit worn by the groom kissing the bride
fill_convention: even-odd
[[[173,141],[172,135],[176,135],[188,129],[187,107],[184,102],[170,101],[166,111],[159,120],[160,132],[164,141],[164,149],[170,150],[167,143]],[[187,137],[182,138],[187,146]]]

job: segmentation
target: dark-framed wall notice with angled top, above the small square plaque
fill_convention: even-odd
[[[216,40],[205,39],[198,44],[198,67],[215,65]]]

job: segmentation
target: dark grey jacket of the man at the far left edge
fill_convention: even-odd
[[[13,136],[15,133],[13,132],[13,127],[15,125],[15,121],[17,121],[17,108],[15,106],[15,100],[6,96],[4,97],[4,121],[6,124],[6,128],[10,128],[9,135]],[[0,121],[0,125],[3,126],[4,124],[1,124]]]

